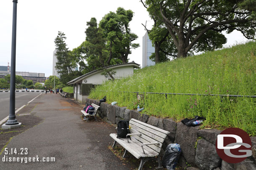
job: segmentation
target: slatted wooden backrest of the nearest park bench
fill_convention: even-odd
[[[156,152],[160,152],[162,143],[165,141],[165,137],[167,136],[168,131],[160,129],[158,127],[154,127],[150,124],[146,124],[144,122],[138,121],[136,119],[131,119],[129,121],[129,125],[131,127],[131,133],[141,133],[141,135],[133,135],[136,140],[141,143],[150,143],[150,142],[159,142],[160,145],[147,145],[146,147],[150,147]]]

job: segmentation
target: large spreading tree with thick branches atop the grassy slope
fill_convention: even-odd
[[[256,0],[146,0],[150,16],[165,23],[177,48],[177,57],[190,51],[221,48],[222,31],[238,30],[255,38]]]

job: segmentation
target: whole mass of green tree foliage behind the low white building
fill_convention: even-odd
[[[96,69],[110,74],[107,66],[128,62],[131,49],[139,46],[132,43],[138,38],[129,28],[132,18],[131,10],[118,8],[116,13],[106,14],[99,25],[96,18],[86,23],[86,40],[71,51],[73,63],[78,63],[82,74]],[[112,74],[110,77],[113,79]]]

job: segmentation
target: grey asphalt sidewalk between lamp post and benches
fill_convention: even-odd
[[[124,164],[108,149],[113,143],[109,134],[115,133],[115,127],[102,121],[84,122],[81,119],[81,109],[82,107],[71,99],[62,98],[56,94],[42,94],[21,109],[18,112],[20,116],[17,115],[17,120],[23,124],[23,127],[11,130],[2,129],[2,134],[14,133],[14,137],[5,146],[8,153],[3,150],[0,155],[0,169],[133,169],[134,166]],[[28,113],[29,115],[21,116]],[[11,148],[13,153],[11,153]],[[23,148],[28,148],[27,155],[21,155]],[[17,153],[14,153],[15,149]],[[26,153],[25,149],[23,153]],[[10,157],[19,157],[20,160],[19,162],[18,160],[6,161]],[[35,157],[39,162],[29,162],[29,158],[25,157]],[[43,157],[46,157],[46,160],[47,157],[54,157],[55,162],[43,162]],[[23,162],[21,163],[22,158]],[[27,163],[25,163],[25,159],[27,159]]]

